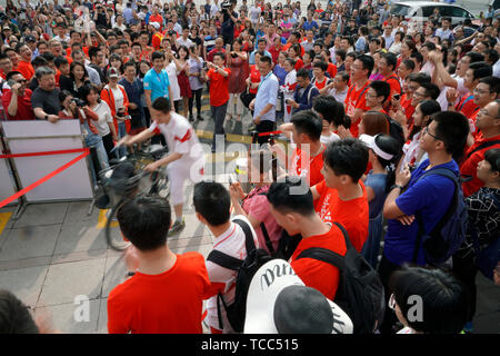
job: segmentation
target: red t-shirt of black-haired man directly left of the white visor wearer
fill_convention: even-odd
[[[326,181],[316,186],[320,197],[314,201],[314,209],[324,222],[342,224],[349,234],[352,246],[360,253],[368,238],[368,199],[364,185],[359,181],[363,196],[344,201],[339,198],[339,191],[327,187]]]

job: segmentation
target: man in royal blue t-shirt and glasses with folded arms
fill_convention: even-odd
[[[441,219],[449,215],[449,208],[453,204],[457,204],[457,208],[452,214],[463,207],[463,200],[459,199],[462,196],[458,182],[459,169],[453,157],[458,158],[463,152],[469,122],[463,115],[451,111],[433,113],[431,119],[431,123],[423,129],[420,144],[420,148],[429,158],[412,172],[408,167],[397,172],[396,185],[391,187],[383,206],[388,231],[379,273],[386,288],[391,274],[403,264],[424,266],[434,263],[430,260],[430,247],[441,243],[441,239],[432,234],[434,228],[438,224],[441,226],[448,222]],[[461,218],[463,220],[463,217]],[[462,220],[456,221],[458,226],[452,227],[462,231]],[[431,238],[422,239],[423,235],[429,237],[431,234]],[[448,249],[441,251],[443,256],[440,257],[451,256],[460,246],[461,241],[457,240],[460,237],[461,234],[443,237],[451,240],[446,241],[449,244]],[[434,251],[433,249],[432,253]],[[393,316],[386,313],[381,330],[390,333],[393,322]]]

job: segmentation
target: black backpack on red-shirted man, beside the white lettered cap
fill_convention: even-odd
[[[372,334],[386,312],[386,299],[379,274],[358,253],[342,225],[337,225],[346,240],[346,256],[321,247],[303,250],[299,258],[313,258],[337,267],[340,283],[334,301],[346,312],[354,326],[354,334]]]

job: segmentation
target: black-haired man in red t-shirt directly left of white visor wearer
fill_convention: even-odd
[[[359,253],[368,238],[367,189],[360,180],[368,156],[367,147],[356,139],[330,144],[321,169],[324,180],[311,188],[316,212],[324,222],[340,222]]]

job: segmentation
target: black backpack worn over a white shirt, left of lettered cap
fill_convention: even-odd
[[[222,330],[222,315],[220,313],[220,305],[222,304],[226,309],[229,324],[231,324],[233,330],[237,333],[242,333],[247,309],[247,294],[250,281],[252,280],[252,277],[257,273],[257,270],[263,264],[270,261],[273,258],[269,256],[269,254],[264,249],[256,248],[252,231],[248,222],[240,219],[234,219],[232,221],[238,224],[244,231],[247,258],[244,260],[241,260],[214,249],[208,255],[207,260],[210,260],[221,267],[238,271],[236,280],[234,301],[228,306],[224,301],[224,298],[219,293],[217,296],[217,316],[219,318],[219,329]]]

